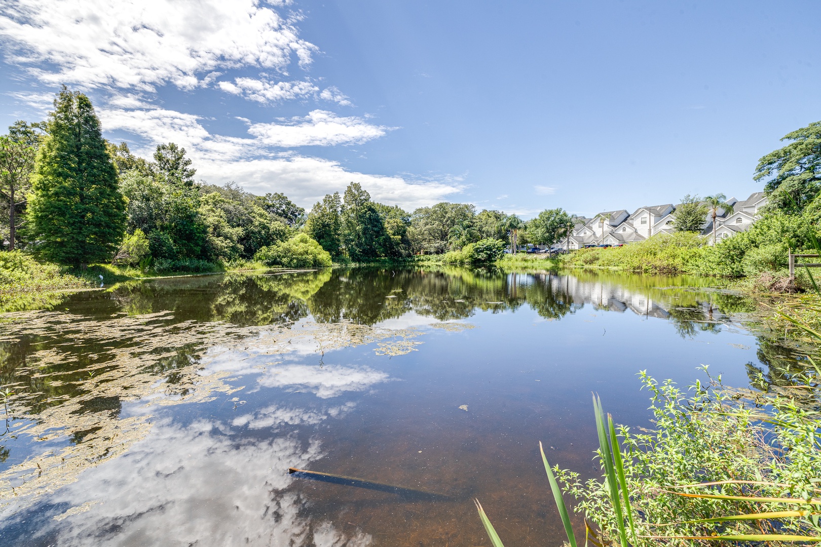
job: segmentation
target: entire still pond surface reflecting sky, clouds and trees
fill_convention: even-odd
[[[591,392],[649,427],[640,370],[744,386],[791,358],[748,330],[750,301],[708,285],[334,269],[4,314],[0,543],[488,545],[478,498],[507,545],[561,545],[538,441],[596,474]]]

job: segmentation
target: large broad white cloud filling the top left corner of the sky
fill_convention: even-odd
[[[11,0],[0,38],[10,62],[48,84],[193,89],[217,69],[287,74],[294,54],[309,65],[317,48],[299,38],[295,22],[258,0]]]

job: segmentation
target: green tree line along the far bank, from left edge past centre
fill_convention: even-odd
[[[195,175],[177,144],[158,145],[149,160],[103,139],[89,98],[64,87],[47,121],[17,121],[0,137],[0,212],[7,219],[0,235],[7,250],[75,267],[111,261],[185,270],[314,253],[297,233],[333,260],[368,262],[447,253],[483,239],[550,245],[572,226],[561,209],[527,223],[466,203],[407,212],[374,202],[358,183],[326,195],[306,215],[284,194],[250,194]]]

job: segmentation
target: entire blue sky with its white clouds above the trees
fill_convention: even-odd
[[[108,138],[305,207],[359,181],[531,217],[745,198],[821,120],[819,2],[4,0],[2,125],[59,84]]]

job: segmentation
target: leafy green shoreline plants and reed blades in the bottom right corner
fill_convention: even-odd
[[[805,387],[817,392],[821,370],[815,372]],[[585,543],[593,545],[821,541],[818,412],[782,396],[767,406],[748,404],[720,381],[697,382],[688,396],[671,381],[658,384],[644,372],[641,378],[653,394],[654,431],[615,426],[594,397],[601,480],[551,468],[541,450],[571,545],[576,537],[560,484],[576,499]],[[477,507],[493,545],[501,546]]]

